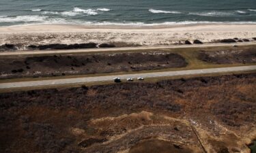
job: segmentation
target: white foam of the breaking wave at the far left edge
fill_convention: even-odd
[[[39,22],[44,21],[48,18],[48,16],[15,16],[15,17],[8,17],[3,16],[0,17],[0,22]]]

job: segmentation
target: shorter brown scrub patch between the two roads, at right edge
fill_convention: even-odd
[[[214,64],[256,63],[256,50],[201,51],[198,58]]]

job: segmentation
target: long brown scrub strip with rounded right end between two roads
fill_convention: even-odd
[[[0,58],[0,78],[113,73],[186,67],[179,54],[165,52],[18,56]]]

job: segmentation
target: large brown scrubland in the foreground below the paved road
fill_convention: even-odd
[[[187,139],[182,143],[188,143],[190,139],[190,143],[195,143],[195,135],[186,125],[175,122],[166,122],[159,127],[147,125],[165,123],[157,117],[160,114],[188,120],[193,118],[208,129],[208,133],[214,133],[209,120],[216,121],[239,135],[242,132],[240,127],[249,130],[256,124],[255,87],[256,73],[248,73],[156,83],[121,83],[1,93],[0,152],[117,152],[127,149],[127,146],[134,146],[130,152],[147,151],[147,146],[152,142],[141,143],[141,139],[162,137],[169,133],[168,137],[173,141]],[[156,114],[150,117],[155,118],[154,122],[148,117],[132,119],[128,116],[117,118],[118,122],[106,120],[104,123],[104,120],[100,120],[98,122],[103,123],[99,126],[96,126],[97,122],[89,124],[95,118],[141,111]],[[126,133],[126,129],[142,125],[145,126],[139,131],[132,131],[122,136],[122,139],[102,143],[113,135]],[[115,130],[110,130],[111,127],[115,127]],[[84,133],[74,134],[74,128],[83,129]],[[100,135],[102,132],[105,134]],[[153,150],[160,148],[162,152],[168,148],[189,152],[186,146],[180,148],[177,143],[158,142],[148,147]],[[227,144],[221,140],[218,143]],[[216,152],[227,152],[227,148],[217,148]]]

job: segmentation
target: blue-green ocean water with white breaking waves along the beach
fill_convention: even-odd
[[[0,26],[218,22],[256,24],[256,0],[0,0]]]

